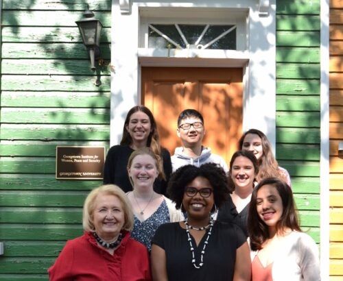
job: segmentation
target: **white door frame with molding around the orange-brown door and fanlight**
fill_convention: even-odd
[[[123,14],[119,0],[113,0],[111,64],[115,66],[115,73],[111,73],[110,145],[120,142],[126,113],[141,101],[141,66],[238,66],[242,67],[244,73],[243,130],[252,127],[262,130],[274,148],[276,4],[275,0],[269,0],[268,16],[260,16],[259,3],[256,0],[189,0],[173,3],[168,0],[132,0],[131,12]],[[267,7],[265,2],[262,4],[263,8]],[[241,25],[241,43],[237,45],[238,51],[186,49],[169,50],[167,53],[166,50],[148,49],[145,25],[149,22],[146,19],[152,18],[167,23],[178,19],[188,19],[187,23],[214,21],[224,24],[231,21]],[[143,32],[140,26],[145,28]],[[261,108],[265,109],[261,111]]]

